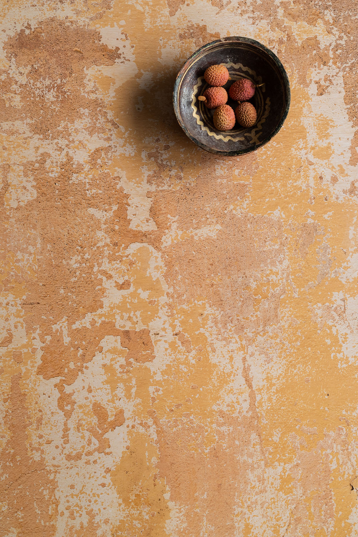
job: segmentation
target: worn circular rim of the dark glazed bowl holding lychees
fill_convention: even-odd
[[[216,150],[216,149],[213,149],[213,148],[209,148],[204,143],[200,142],[200,140],[196,140],[196,138],[189,133],[189,131],[186,128],[184,122],[182,121],[181,115],[179,113],[178,89],[179,89],[181,79],[184,76],[184,73],[186,71],[186,68],[187,68],[188,64],[191,62],[191,60],[193,60],[198,54],[200,54],[206,48],[209,48],[209,47],[211,47],[213,45],[216,45],[216,43],[223,43],[225,41],[233,41],[233,42],[239,41],[239,42],[243,42],[243,43],[249,43],[250,45],[258,47],[261,50],[264,50],[264,52],[266,52],[266,54],[268,54],[273,59],[273,61],[275,62],[276,66],[279,68],[279,70],[281,72],[281,75],[283,77],[283,85],[284,85],[284,89],[286,91],[286,96],[287,96],[286,106],[284,108],[282,117],[281,117],[281,119],[279,121],[279,124],[276,126],[276,128],[273,130],[273,132],[265,140],[263,140],[262,142],[258,143],[257,145],[252,146],[252,147],[247,147],[245,149],[240,149],[238,151],[219,151],[219,150]],[[238,35],[231,35],[229,37],[223,37],[221,39],[216,39],[215,41],[210,41],[210,43],[206,43],[205,45],[202,45],[200,48],[195,50],[195,52],[193,52],[193,54],[188,57],[188,59],[185,61],[184,65],[182,66],[182,68],[178,72],[176,81],[174,82],[174,89],[173,89],[173,108],[174,108],[174,112],[176,114],[177,121],[178,121],[180,127],[182,128],[182,130],[184,130],[184,132],[188,136],[188,138],[192,142],[194,142],[197,146],[201,147],[202,149],[204,149],[206,151],[209,151],[209,153],[214,153],[215,155],[222,155],[222,156],[244,155],[246,153],[251,153],[251,151],[255,151],[256,149],[258,149],[261,146],[264,146],[264,144],[269,142],[273,138],[273,136],[275,136],[275,134],[277,134],[279,132],[279,130],[281,129],[281,127],[282,127],[282,125],[284,123],[284,120],[286,120],[286,118],[287,118],[287,114],[288,114],[289,107],[290,107],[290,102],[291,102],[291,90],[290,90],[290,83],[289,83],[288,75],[287,75],[287,72],[284,69],[281,61],[276,56],[276,54],[274,52],[272,52],[272,50],[270,50],[269,48],[265,47],[265,45],[262,45],[262,43],[260,43],[259,41],[256,41],[255,39],[251,39],[249,37],[241,37],[241,36],[238,36]]]

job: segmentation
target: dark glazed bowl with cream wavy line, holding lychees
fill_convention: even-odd
[[[208,88],[204,79],[207,67],[224,63],[231,80],[250,78],[256,88],[250,99],[257,110],[257,124],[244,128],[236,123],[221,132],[214,127],[213,113],[198,97]],[[229,98],[233,107],[237,102]],[[264,145],[279,132],[290,106],[288,76],[277,56],[264,45],[246,37],[225,37],[199,48],[180,69],[174,84],[173,106],[180,127],[198,146],[217,155],[243,155]]]

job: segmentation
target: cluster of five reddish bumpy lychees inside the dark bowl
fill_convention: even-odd
[[[235,121],[242,127],[253,127],[257,122],[257,112],[253,104],[247,102],[255,93],[255,86],[249,78],[239,78],[229,88],[229,97],[238,101],[233,108],[227,104],[228,93],[223,88],[231,80],[228,69],[223,65],[214,65],[207,68],[204,78],[210,88],[198,97],[207,108],[215,108],[213,121],[217,130],[231,130]],[[262,84],[260,84],[262,85]]]

